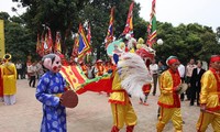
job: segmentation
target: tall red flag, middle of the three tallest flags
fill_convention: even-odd
[[[133,7],[134,7],[134,1],[132,1],[132,3],[130,4],[128,18],[127,18],[127,24],[125,24],[122,35],[125,35],[129,33],[131,34],[131,36],[133,36]]]

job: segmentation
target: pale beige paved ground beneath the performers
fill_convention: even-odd
[[[0,130],[3,132],[38,132],[42,119],[42,105],[35,99],[35,88],[30,88],[28,80],[18,80],[16,103],[4,106],[0,102]],[[131,98],[139,118],[134,132],[156,132],[157,98],[148,97],[150,106],[139,105],[138,98]],[[182,103],[185,132],[196,132],[199,117],[198,107],[189,107],[188,101]],[[86,92],[79,96],[79,105],[75,109],[67,109],[68,132],[110,132],[112,117],[106,95]],[[121,130],[124,132],[124,129]],[[173,132],[169,122],[164,132]],[[209,127],[207,132],[211,132]]]

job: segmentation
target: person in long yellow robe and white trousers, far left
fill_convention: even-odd
[[[6,54],[3,56],[4,64],[2,65],[3,75],[3,100],[4,105],[15,103],[16,94],[16,68],[13,63],[11,63],[11,55]]]

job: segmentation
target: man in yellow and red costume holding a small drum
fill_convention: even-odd
[[[172,119],[175,131],[183,131],[183,119],[180,113],[180,99],[177,90],[180,86],[180,76],[178,73],[179,61],[176,56],[170,56],[166,61],[169,68],[160,77],[161,96],[158,106],[161,107],[157,132],[164,130],[165,124]]]

